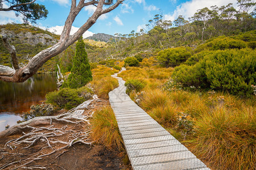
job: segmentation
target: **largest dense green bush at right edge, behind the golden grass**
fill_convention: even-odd
[[[184,87],[212,88],[249,97],[253,95],[255,71],[255,50],[246,48],[209,53],[193,66],[176,67],[172,76]]]

